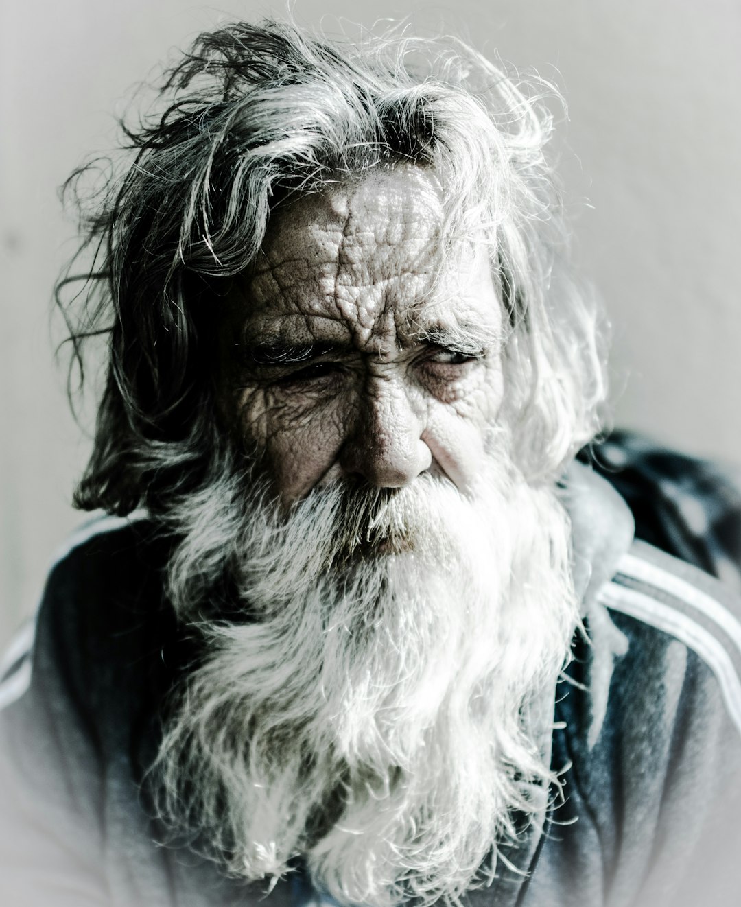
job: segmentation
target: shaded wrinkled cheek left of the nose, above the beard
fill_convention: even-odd
[[[267,463],[284,503],[307,494],[336,462],[346,427],[341,400],[258,389],[242,395],[239,410],[242,436]]]

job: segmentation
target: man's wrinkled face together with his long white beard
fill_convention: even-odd
[[[239,456],[214,463],[169,565],[203,659],[163,738],[161,814],[245,879],[301,853],[342,903],[457,902],[537,808],[578,619],[555,488],[496,430],[486,243],[441,248],[443,214],[407,167],[271,221],[225,343],[282,502]]]

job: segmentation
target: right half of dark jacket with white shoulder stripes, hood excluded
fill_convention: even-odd
[[[556,818],[575,822],[561,850],[599,853],[616,903],[685,903],[668,897],[685,890],[738,903],[741,600],[637,541],[597,604],[556,705],[554,768],[568,768]],[[708,880],[733,896],[714,900]]]

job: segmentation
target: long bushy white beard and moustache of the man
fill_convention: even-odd
[[[228,559],[249,622],[193,625],[207,655],[155,766],[167,822],[245,879],[302,855],[343,903],[491,880],[513,812],[552,780],[542,708],[578,621],[568,518],[513,474],[472,499],[426,474],[333,485],[288,518],[234,483],[219,513],[213,488],[190,502],[174,600]]]

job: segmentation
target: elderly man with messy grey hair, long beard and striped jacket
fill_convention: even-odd
[[[113,515],[0,688],[3,903],[738,903],[738,603],[574,461],[541,90],[235,24],[127,131],[67,311]]]

